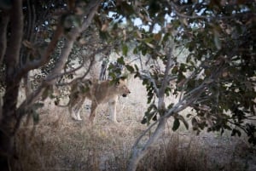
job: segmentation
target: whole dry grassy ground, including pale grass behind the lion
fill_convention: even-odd
[[[118,120],[108,121],[108,106],[101,105],[89,126],[90,110],[83,121],[73,121],[66,108],[46,101],[40,122],[24,119],[16,136],[13,170],[24,171],[122,171],[127,167],[131,146],[146,129],[140,121],[146,110],[145,90],[138,80],[129,83],[131,95],[120,98]],[[88,101],[86,102],[88,104]],[[145,136],[145,140],[149,134]],[[157,145],[140,162],[138,171],[255,171],[256,150],[246,140],[228,134],[202,133],[181,128],[172,132],[172,120]]]

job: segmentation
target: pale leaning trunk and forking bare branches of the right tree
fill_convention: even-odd
[[[169,56],[170,57],[170,56]],[[171,61],[171,60],[170,60]],[[171,66],[171,62],[167,61],[166,66],[166,73],[168,74],[168,70],[170,70],[169,66]],[[137,164],[140,162],[140,160],[148,153],[149,148],[154,145],[154,143],[160,138],[160,135],[164,133],[165,127],[166,127],[166,121],[169,117],[172,117],[174,114],[183,111],[186,109],[189,105],[192,105],[196,100],[198,100],[201,96],[201,94],[207,90],[209,87],[209,84],[212,83],[213,80],[215,80],[217,77],[219,77],[224,70],[224,66],[219,66],[216,68],[215,71],[212,71],[212,73],[215,73],[212,75],[212,77],[209,77],[205,79],[201,85],[198,87],[190,90],[186,95],[183,95],[183,98],[180,99],[176,105],[173,105],[171,109],[167,110],[165,109],[163,115],[160,117],[159,120],[157,120],[155,123],[151,124],[148,129],[146,129],[141,136],[137,138],[137,141],[132,147],[132,154],[131,154],[131,160],[129,162],[129,166],[127,168],[128,171],[136,171]],[[195,71],[198,72],[197,70]],[[195,76],[195,73],[191,73],[191,77]],[[189,77],[189,79],[191,79]],[[165,79],[168,77],[164,77]],[[163,83],[165,85],[165,83]],[[161,88],[166,88],[165,86],[162,86]],[[161,110],[162,106],[165,105],[164,102],[164,92],[159,96],[159,109]],[[160,111],[159,111],[160,112]],[[141,141],[143,140],[143,136],[145,136],[155,125],[157,127],[154,129],[154,134],[147,140],[147,142],[140,145]]]

